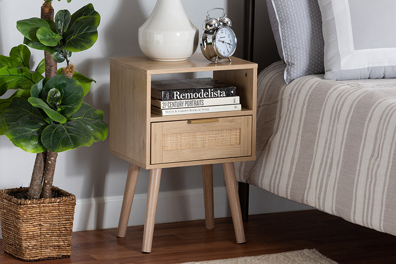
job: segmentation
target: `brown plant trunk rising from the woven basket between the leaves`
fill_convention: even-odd
[[[51,3],[44,2],[41,7],[41,18],[53,20],[54,10]],[[46,64],[46,78],[51,78],[57,74],[57,63],[52,59],[49,51],[44,51]],[[50,151],[38,153],[33,167],[32,179],[29,185],[29,199],[51,197],[53,173],[56,165],[56,155],[49,154]],[[52,152],[53,153],[53,152]],[[54,158],[55,157],[55,158]],[[50,168],[47,165],[50,162]],[[44,186],[43,186],[44,179]],[[46,189],[46,191],[44,191]],[[49,192],[48,192],[49,189]],[[49,196],[48,196],[49,195]]]

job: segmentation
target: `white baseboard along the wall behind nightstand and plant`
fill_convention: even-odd
[[[215,218],[231,216],[226,188],[214,188],[213,194]],[[73,231],[117,227],[122,198],[122,196],[113,196],[77,199]],[[128,226],[144,224],[146,202],[147,194],[135,195]],[[311,208],[280,198],[250,185],[250,215],[307,209]],[[156,223],[199,220],[204,219],[204,217],[202,189],[159,193],[155,218]]]

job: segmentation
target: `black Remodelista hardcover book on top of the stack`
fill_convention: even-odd
[[[151,97],[161,101],[236,96],[237,88],[213,78],[151,82]]]

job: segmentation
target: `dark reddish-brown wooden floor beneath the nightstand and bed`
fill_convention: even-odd
[[[236,244],[231,218],[156,224],[152,253],[141,253],[143,226],[128,227],[125,238],[116,229],[73,233],[72,256],[40,264],[175,264],[211,259],[317,249],[340,264],[395,264],[396,236],[377,232],[316,211],[250,216],[245,223],[247,242]],[[0,264],[21,263],[3,253]]]

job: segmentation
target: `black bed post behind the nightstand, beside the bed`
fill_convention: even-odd
[[[245,0],[244,59],[248,61],[253,60],[254,4],[254,0]],[[249,217],[249,184],[239,182],[238,194],[241,204],[242,220],[247,222]]]

